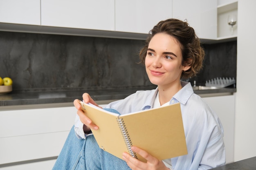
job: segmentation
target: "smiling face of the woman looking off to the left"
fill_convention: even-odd
[[[183,70],[180,42],[166,33],[157,33],[148,44],[145,58],[146,72],[150,82],[157,86],[180,84]]]

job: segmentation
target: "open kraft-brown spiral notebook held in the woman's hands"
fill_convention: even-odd
[[[180,103],[136,113],[119,115],[81,102],[82,110],[99,126],[92,133],[99,147],[122,159],[128,152],[141,161],[140,155],[130,150],[137,146],[160,160],[187,154]]]

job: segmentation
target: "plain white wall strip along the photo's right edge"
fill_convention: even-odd
[[[256,156],[256,0],[238,0],[234,161]]]

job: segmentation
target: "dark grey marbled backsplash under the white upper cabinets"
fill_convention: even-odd
[[[0,77],[14,90],[152,86],[139,62],[143,40],[0,31]],[[194,79],[236,77],[236,41],[205,44]]]

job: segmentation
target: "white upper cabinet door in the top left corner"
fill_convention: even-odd
[[[0,22],[40,25],[40,0],[0,0]]]

